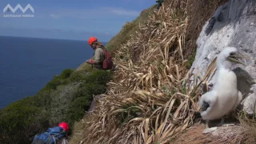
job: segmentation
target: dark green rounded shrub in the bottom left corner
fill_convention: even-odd
[[[30,143],[48,126],[47,113],[33,106],[33,98],[14,102],[0,113],[0,143]]]

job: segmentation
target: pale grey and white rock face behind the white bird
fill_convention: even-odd
[[[197,53],[191,70],[202,76],[210,62],[226,46],[234,46],[247,57],[247,66],[235,65],[238,90],[244,94],[243,110],[256,112],[256,1],[230,0],[219,6],[205,26],[197,41]],[[214,84],[214,78],[210,81]]]

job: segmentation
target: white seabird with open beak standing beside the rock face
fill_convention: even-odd
[[[199,100],[202,119],[206,120],[204,134],[217,129],[217,127],[209,128],[209,120],[222,118],[221,123],[218,124],[222,126],[223,116],[235,110],[242,101],[242,93],[237,88],[237,76],[230,70],[232,62],[245,65],[238,61],[238,58],[244,57],[238,54],[235,47],[226,47],[218,54],[215,84],[212,90],[203,94]]]

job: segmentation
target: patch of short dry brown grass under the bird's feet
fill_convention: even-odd
[[[234,126],[220,126],[213,133],[202,134],[205,125],[197,123],[181,134],[177,134],[172,138],[171,142],[177,144],[256,143],[256,120],[249,118],[248,115],[242,111],[238,112],[238,114],[236,114],[236,117],[237,116],[240,123]]]

